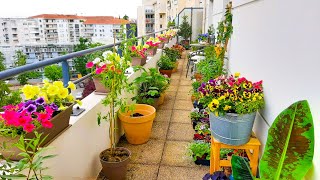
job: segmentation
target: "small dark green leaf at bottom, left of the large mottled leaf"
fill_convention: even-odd
[[[235,180],[253,180],[248,161],[241,156],[232,156],[232,175]]]

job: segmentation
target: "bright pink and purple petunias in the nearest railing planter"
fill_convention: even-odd
[[[30,133],[39,127],[52,128],[50,120],[53,113],[58,111],[58,106],[54,103],[46,104],[44,98],[40,97],[16,106],[4,106],[3,110],[4,113],[0,114],[1,124]]]

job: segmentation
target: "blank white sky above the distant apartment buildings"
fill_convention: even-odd
[[[141,0],[2,0],[0,17],[38,14],[77,14],[137,17]]]

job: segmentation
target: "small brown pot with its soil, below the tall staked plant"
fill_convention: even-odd
[[[100,153],[102,173],[109,180],[125,180],[131,152],[121,147],[114,150],[114,154],[111,153],[111,149],[106,149]]]

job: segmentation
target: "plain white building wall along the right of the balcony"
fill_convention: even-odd
[[[213,22],[223,15],[222,0],[214,1]],[[246,3],[246,4],[243,4]],[[266,107],[254,131],[265,143],[268,124],[293,102],[306,99],[314,118],[314,173],[320,179],[320,1],[234,1],[234,33],[229,46],[230,71],[263,80]]]

